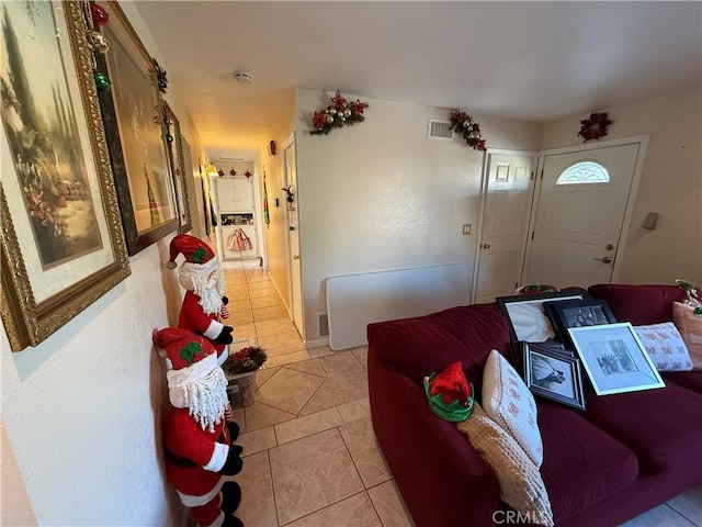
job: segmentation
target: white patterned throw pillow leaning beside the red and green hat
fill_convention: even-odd
[[[536,467],[541,467],[544,447],[536,424],[534,396],[517,370],[495,349],[483,370],[483,408],[514,438]]]

